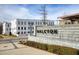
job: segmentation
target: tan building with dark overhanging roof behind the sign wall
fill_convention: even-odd
[[[60,25],[65,25],[65,24],[79,24],[79,13],[77,14],[71,14],[71,15],[65,15],[59,17],[60,19]]]

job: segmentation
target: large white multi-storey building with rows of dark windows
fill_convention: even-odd
[[[11,33],[17,36],[28,36],[34,34],[34,27],[44,25],[42,20],[15,19],[11,21]],[[52,20],[46,20],[46,25],[53,26]]]

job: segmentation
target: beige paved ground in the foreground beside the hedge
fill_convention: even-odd
[[[0,55],[55,55],[53,53],[22,44],[14,44],[17,46],[17,48],[15,48],[12,43],[0,44]]]

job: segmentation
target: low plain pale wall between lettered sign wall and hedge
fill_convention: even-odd
[[[28,38],[29,38],[28,41],[45,43],[45,44],[49,44],[49,45],[60,45],[60,46],[79,49],[79,42],[71,41],[69,38],[68,39],[59,39],[59,38],[35,37],[35,36],[29,36]]]

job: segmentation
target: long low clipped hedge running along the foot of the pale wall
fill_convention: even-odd
[[[25,45],[35,47],[38,49],[46,50],[51,53],[59,54],[59,55],[79,55],[79,50],[70,48],[70,47],[64,47],[64,46],[58,46],[58,45],[48,45],[33,41],[27,41]]]

